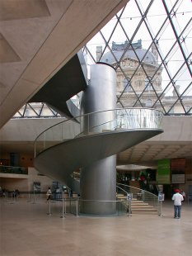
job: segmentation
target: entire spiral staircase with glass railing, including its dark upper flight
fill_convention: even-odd
[[[46,102],[69,118],[36,138],[35,168],[77,193],[79,180],[73,178],[77,169],[119,154],[163,131],[162,112],[154,109],[110,109],[80,116],[70,98],[86,90],[87,83],[87,66],[79,52],[31,99]]]

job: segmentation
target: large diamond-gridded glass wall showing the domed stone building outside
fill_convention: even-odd
[[[183,65],[192,45],[189,10],[186,1],[129,1],[105,26],[109,48],[102,61],[118,68],[117,106],[184,114],[181,95],[189,87],[185,104],[190,109],[191,60]]]

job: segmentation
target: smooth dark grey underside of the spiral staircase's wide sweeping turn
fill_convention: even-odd
[[[35,168],[79,193],[79,182],[71,176],[74,171],[160,133],[161,129],[118,130],[77,137],[42,151],[35,157]]]

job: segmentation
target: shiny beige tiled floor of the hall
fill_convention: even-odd
[[[183,203],[181,219],[173,218],[171,201],[163,216],[61,218],[59,202],[11,203],[0,199],[1,256],[190,256],[192,203]]]

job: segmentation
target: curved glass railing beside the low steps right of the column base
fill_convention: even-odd
[[[131,200],[148,203],[149,206],[152,206],[154,209],[156,209],[157,213],[160,212],[160,203],[158,201],[157,195],[138,187],[131,187],[117,183],[117,198],[124,200],[124,197],[129,197],[130,194],[132,195]]]

